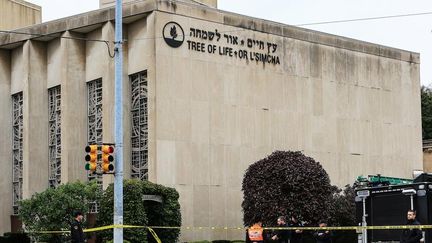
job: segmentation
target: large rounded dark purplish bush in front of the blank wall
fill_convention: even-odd
[[[278,216],[296,214],[316,225],[330,218],[335,188],[322,166],[301,152],[276,151],[250,165],[243,178],[244,224],[274,226]]]

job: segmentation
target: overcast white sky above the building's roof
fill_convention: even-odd
[[[42,21],[98,9],[99,0],[27,0],[42,6]],[[431,0],[218,0],[220,9],[284,24],[430,13],[304,28],[420,53],[420,79],[432,84]],[[431,85],[432,86],[432,85]]]

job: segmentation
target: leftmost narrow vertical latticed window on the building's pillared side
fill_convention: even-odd
[[[12,207],[18,214],[18,203],[22,199],[23,184],[23,93],[12,95]]]

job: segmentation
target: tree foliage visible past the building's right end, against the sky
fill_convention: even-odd
[[[422,86],[420,93],[423,140],[432,139],[432,90]]]

